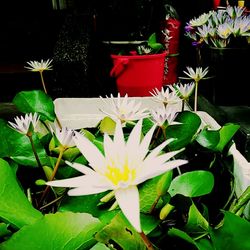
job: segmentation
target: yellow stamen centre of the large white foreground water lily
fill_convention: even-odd
[[[108,166],[105,176],[115,185],[122,188],[127,187],[136,177],[136,170],[130,169],[128,165],[123,168]]]

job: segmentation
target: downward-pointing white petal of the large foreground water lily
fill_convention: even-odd
[[[141,232],[140,223],[140,200],[136,186],[129,186],[126,189],[115,190],[115,198],[131,225],[137,232]]]

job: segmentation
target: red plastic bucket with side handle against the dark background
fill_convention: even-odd
[[[150,96],[153,89],[163,86],[167,52],[153,55],[111,55],[113,68],[110,76],[116,78],[121,96]]]

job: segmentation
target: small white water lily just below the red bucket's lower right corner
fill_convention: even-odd
[[[168,104],[176,104],[181,101],[175,91],[170,91],[170,88],[161,88],[161,91],[155,88],[150,94],[154,97],[154,100],[163,103],[165,106]]]

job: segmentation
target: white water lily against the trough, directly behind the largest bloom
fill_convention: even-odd
[[[135,121],[141,118],[145,118],[149,115],[149,111],[147,109],[141,108],[141,102],[136,103],[135,100],[129,99],[128,95],[121,97],[120,93],[118,93],[117,98],[115,98],[111,94],[111,97],[108,98],[108,100],[103,99],[103,101],[105,102],[105,104],[110,106],[110,112],[104,111],[102,109],[100,110],[115,121]]]

